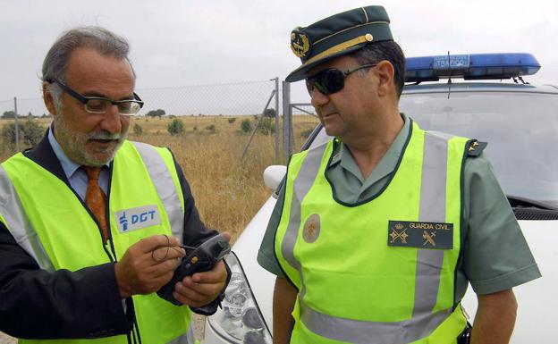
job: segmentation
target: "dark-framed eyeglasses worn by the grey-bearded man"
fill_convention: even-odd
[[[124,100],[111,100],[102,96],[83,96],[77,91],[70,88],[68,85],[64,84],[62,81],[57,79],[47,80],[49,83],[56,83],[64,91],[66,91],[70,96],[78,99],[83,103],[85,111],[88,113],[106,113],[106,109],[110,105],[116,105],[118,107],[118,113],[124,116],[131,116],[139,112],[139,109],[143,106],[143,101],[134,92],[134,99],[124,99]]]

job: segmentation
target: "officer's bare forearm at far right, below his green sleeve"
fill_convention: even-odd
[[[507,344],[515,325],[517,301],[511,289],[478,295],[471,344]]]

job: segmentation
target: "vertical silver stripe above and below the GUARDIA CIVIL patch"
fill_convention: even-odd
[[[445,222],[445,184],[449,135],[427,131],[424,138],[418,221]],[[440,287],[444,250],[419,249],[413,318],[434,309]]]

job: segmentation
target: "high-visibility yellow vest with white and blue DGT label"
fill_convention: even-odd
[[[2,164],[0,181],[2,192],[13,193],[9,211],[0,214],[0,221],[41,269],[76,271],[110,262],[97,223],[63,180],[20,153]],[[182,239],[184,199],[170,151],[125,141],[114,157],[107,205],[118,260],[131,245],[151,235]],[[111,250],[109,244],[106,249]],[[189,330],[189,307],[174,306],[156,293],[132,298],[143,343],[171,343]],[[127,343],[127,339],[119,335],[20,340],[21,344],[43,342]]]

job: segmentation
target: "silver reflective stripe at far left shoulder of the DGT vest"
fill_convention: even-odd
[[[0,166],[0,214],[4,216],[4,224],[18,245],[35,259],[41,269],[54,272],[53,264],[38,239],[37,232],[31,226],[27,214],[23,212],[20,197],[13,188],[12,180],[2,166]]]

